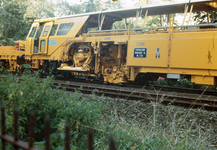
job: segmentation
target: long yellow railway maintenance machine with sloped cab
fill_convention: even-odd
[[[217,2],[207,0],[36,20],[25,51],[0,47],[0,61],[10,70],[28,63],[35,70],[53,69],[68,77],[97,77],[114,84],[155,80],[160,75],[217,85],[216,10]],[[188,25],[194,12],[207,14],[203,24]],[[149,16],[171,18],[177,13],[184,13],[180,26],[173,25],[173,17],[166,23],[161,20],[159,27],[145,27]],[[124,27],[114,29],[119,21]]]

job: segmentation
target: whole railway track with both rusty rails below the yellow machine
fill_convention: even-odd
[[[20,79],[20,77],[17,77]],[[120,87],[117,85],[103,85],[99,82],[89,82],[85,80],[54,80],[52,87],[66,88],[67,91],[74,92],[79,90],[84,94],[95,93],[96,95],[104,95],[112,98],[122,98],[125,100],[138,100],[142,102],[159,102],[161,104],[171,104],[181,106],[185,108],[202,108],[208,111],[217,111],[217,92],[215,91],[203,91],[197,89],[188,88],[176,88],[168,86],[138,86],[138,85],[125,85]],[[204,99],[198,96],[186,97],[186,96],[174,96],[172,94],[164,93],[159,94],[157,91],[181,92],[200,95],[213,95],[215,99]],[[151,92],[150,92],[151,91]]]

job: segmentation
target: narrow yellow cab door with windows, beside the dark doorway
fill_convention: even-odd
[[[47,22],[44,24],[44,28],[39,38],[39,53],[40,54],[47,54],[48,46],[49,46],[49,35],[50,35],[52,26],[53,26],[53,22]]]

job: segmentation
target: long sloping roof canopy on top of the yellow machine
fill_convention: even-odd
[[[175,13],[184,13],[186,5],[194,5],[193,12],[217,10],[216,0],[203,0],[203,1],[194,1],[189,3],[183,2],[183,3],[144,6],[144,7],[130,8],[130,9],[118,9],[118,10],[107,10],[107,11],[92,12],[92,13],[83,13],[83,14],[64,16],[64,17],[57,17],[55,19],[64,19],[64,18],[97,15],[97,14],[105,14],[106,16],[128,18],[128,17],[135,17],[137,11],[139,10],[141,11],[141,15],[145,15],[146,10],[148,10],[148,16],[175,14]],[[40,20],[44,20],[44,19],[40,19]],[[39,20],[35,20],[35,21],[39,21]]]

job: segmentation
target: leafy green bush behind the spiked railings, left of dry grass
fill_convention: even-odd
[[[46,114],[51,119],[52,149],[64,145],[65,121],[71,123],[72,145],[85,148],[87,127],[94,126],[101,116],[101,103],[89,102],[77,91],[68,94],[58,88],[52,89],[53,78],[47,77],[38,82],[37,76],[23,75],[18,81],[16,76],[5,75],[0,78],[1,104],[6,105],[7,132],[13,133],[13,108],[19,110],[19,136],[27,140],[28,118],[31,110],[35,110],[35,141],[43,147],[44,119]]]

